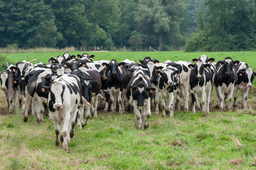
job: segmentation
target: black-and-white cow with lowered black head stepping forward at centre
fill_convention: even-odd
[[[135,127],[137,127],[137,130],[149,128],[150,101],[154,91],[155,89],[151,86],[149,77],[142,73],[136,74],[129,81],[127,99],[134,108]],[[145,116],[146,124],[144,125]]]

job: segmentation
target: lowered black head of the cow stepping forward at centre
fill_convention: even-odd
[[[145,84],[129,85],[129,88],[132,90],[132,98],[137,101],[137,106],[144,106],[144,100],[149,98],[149,93],[156,90],[153,87],[146,87]]]

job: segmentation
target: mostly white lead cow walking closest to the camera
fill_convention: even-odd
[[[49,116],[53,120],[56,134],[55,145],[60,147],[60,140],[63,138],[65,152],[68,151],[70,137],[75,135],[75,116],[80,104],[81,88],[80,79],[71,74],[63,74],[55,79],[49,87],[41,87],[42,91],[48,91]]]

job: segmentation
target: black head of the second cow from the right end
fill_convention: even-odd
[[[240,63],[240,61],[238,61],[238,60],[233,61],[231,57],[226,57],[225,60],[217,62],[217,67],[223,65],[225,76],[230,77],[233,72],[233,67],[235,67],[235,65],[237,65],[239,63]]]

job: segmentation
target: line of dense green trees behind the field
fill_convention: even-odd
[[[0,47],[255,49],[254,0],[0,0]]]

